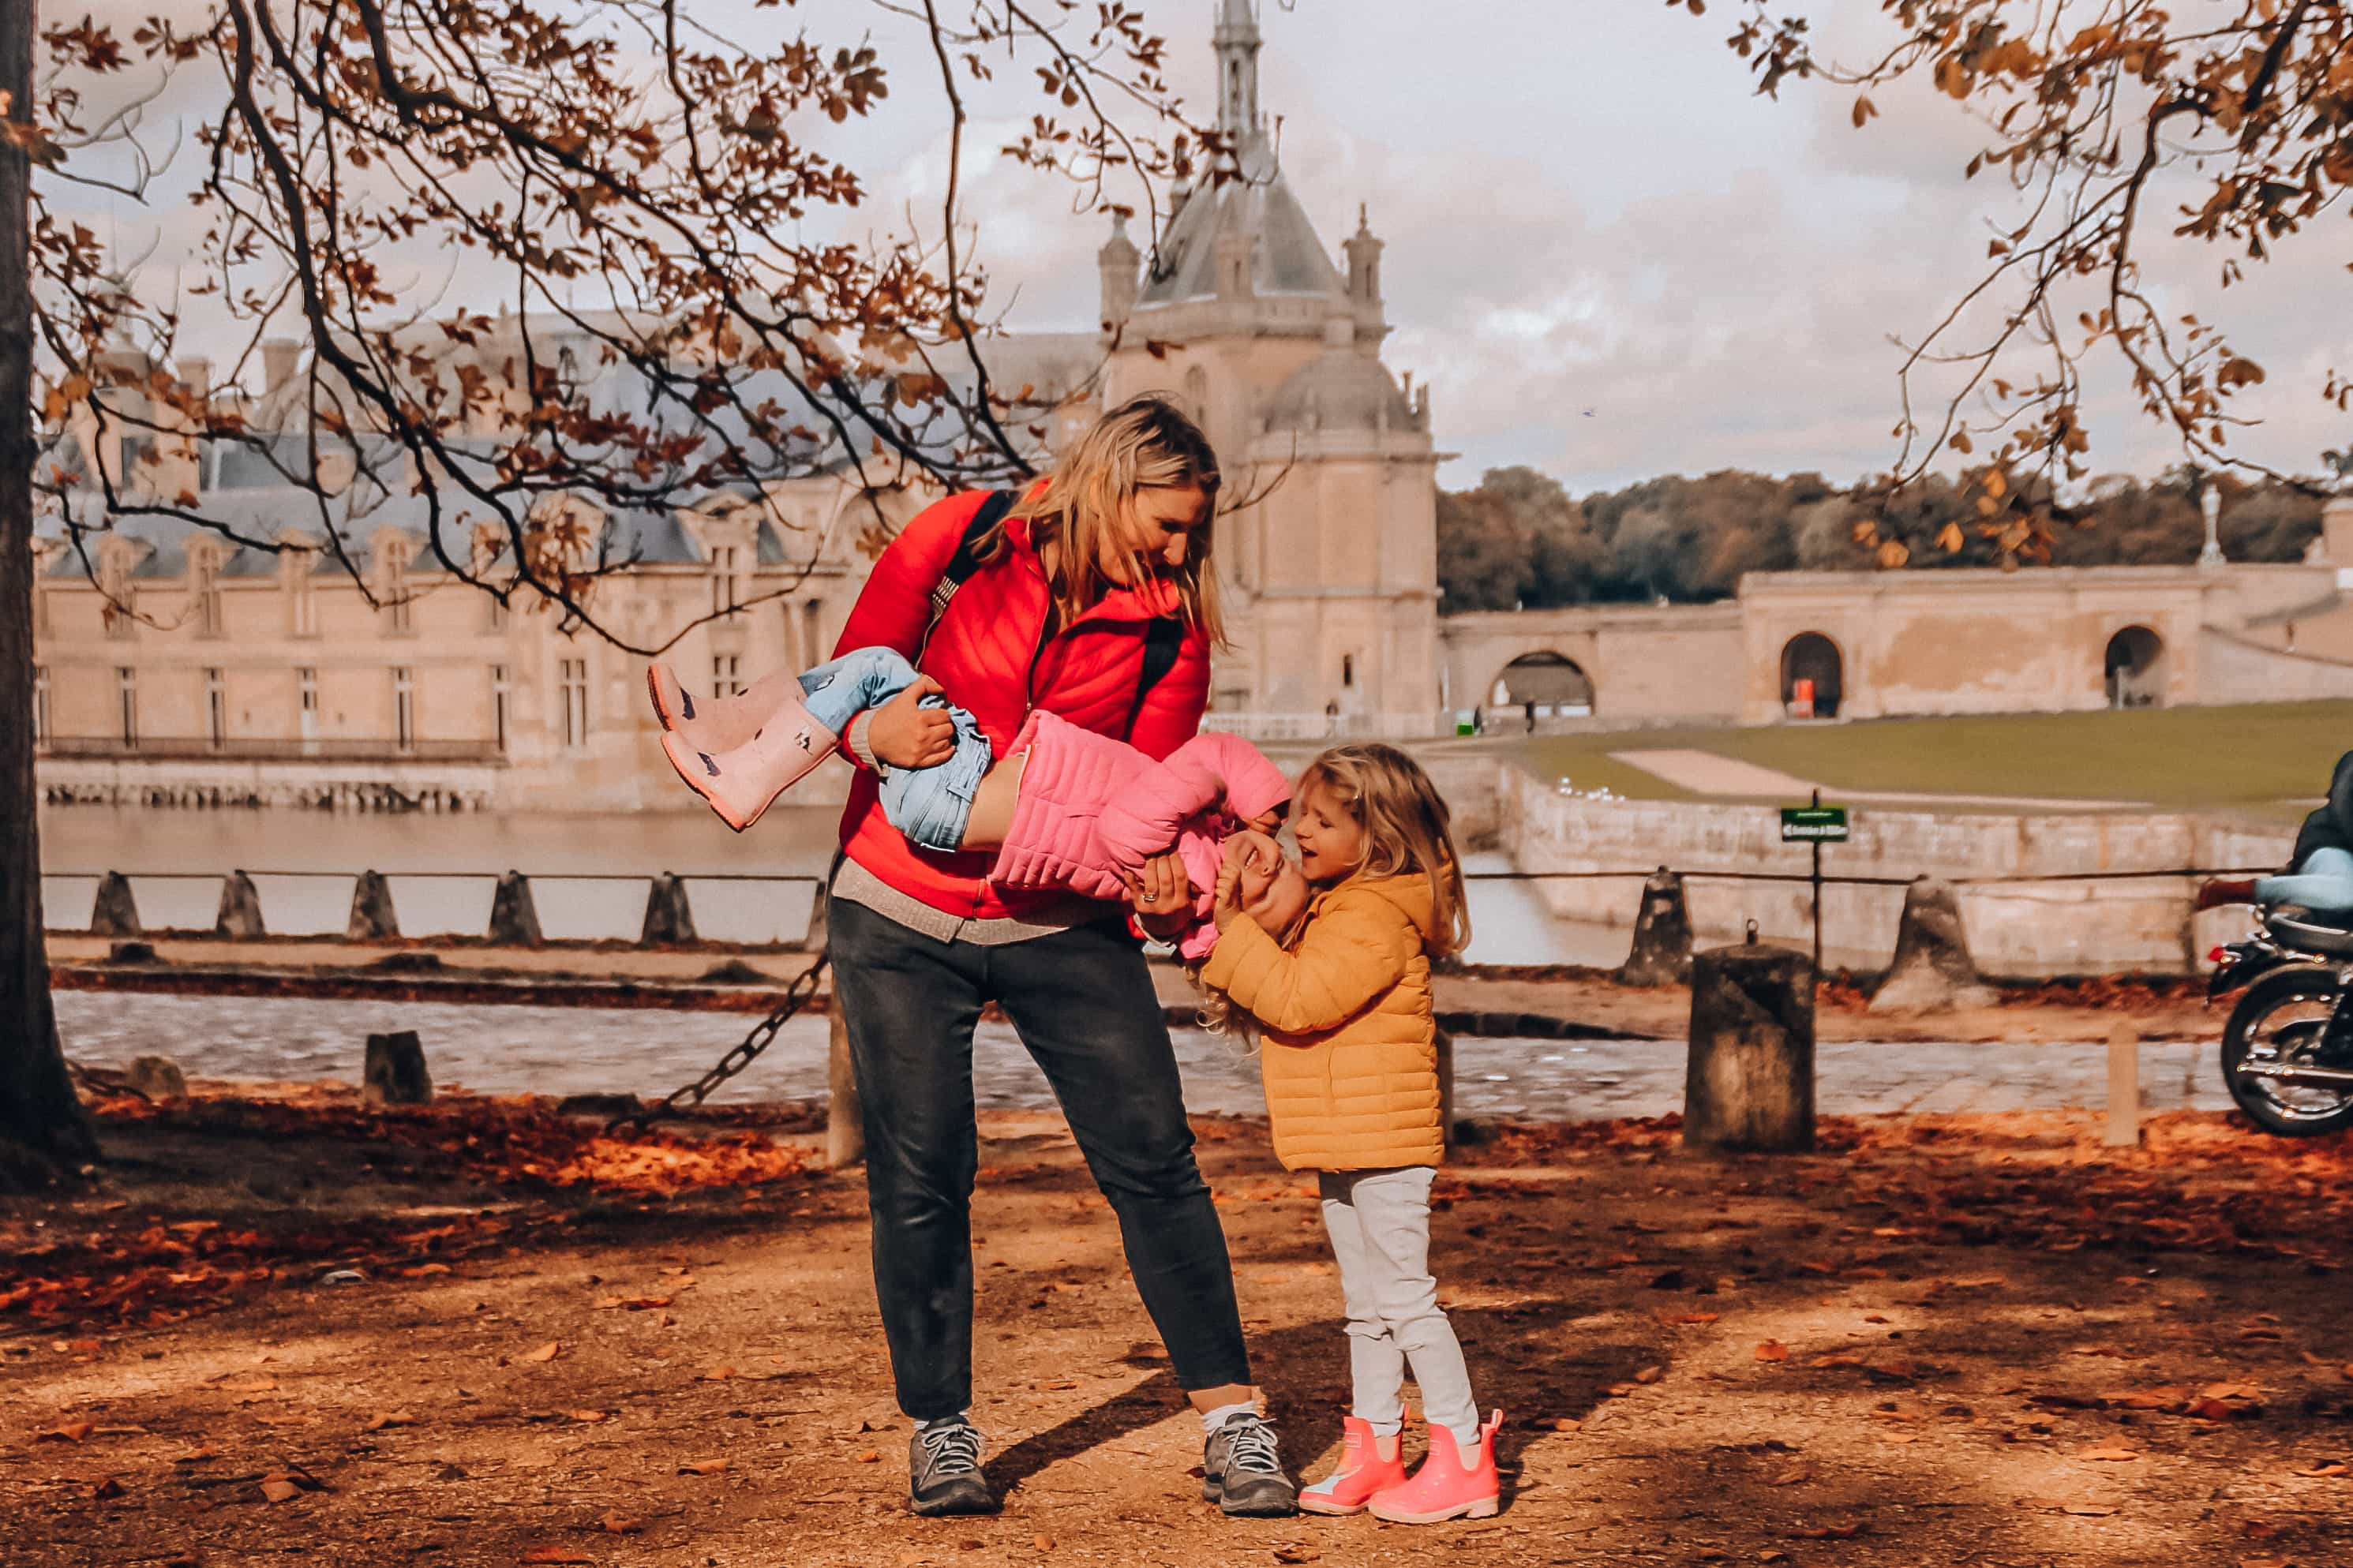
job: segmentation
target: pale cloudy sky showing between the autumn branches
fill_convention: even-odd
[[[1200,101],[1212,0],[1144,9],[1174,40],[1176,85]],[[1878,7],[1812,9],[1831,38],[1864,40]],[[1532,463],[1574,491],[1725,465],[1847,480],[1894,456],[1901,355],[1889,339],[1918,336],[1977,282],[1991,226],[2017,197],[1962,181],[1984,139],[1948,99],[1880,92],[1882,118],[1857,132],[1845,92],[1753,96],[1725,49],[1725,12],[1266,5],[1261,101],[1282,118],[1287,176],[1327,244],[1355,226],[1358,202],[1388,240],[1386,357],[1433,386],[1438,440],[1459,454],[1447,484],[1499,463]],[[689,14],[734,38],[802,24],[840,38],[875,12],[866,0],[692,0]],[[873,26],[889,42],[889,24]],[[887,59],[899,63],[887,113],[847,132],[875,186],[866,221],[936,223],[936,82],[920,59]],[[1016,327],[1089,327],[1104,221],[995,155],[1009,125],[984,118],[967,146],[967,214],[995,299]],[[122,205],[108,216],[125,249],[169,263],[167,216]],[[2353,416],[2320,400],[2327,371],[2353,367],[2341,230],[2334,216],[2228,292],[2214,252],[2160,242],[2151,268],[2167,303],[2221,320],[2271,371],[2242,400],[2264,428],[2233,444],[2304,473],[2353,437]],[[2094,378],[2092,414],[2097,470],[2177,458],[2113,374]]]

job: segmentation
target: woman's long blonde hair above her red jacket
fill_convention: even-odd
[[[1209,646],[1224,646],[1226,621],[1217,607],[1217,574],[1209,571],[1217,534],[1217,451],[1200,425],[1160,395],[1129,397],[1096,418],[1045,484],[1016,501],[1005,512],[1005,522],[976,541],[974,559],[984,567],[1002,559],[1007,550],[1005,524],[1014,517],[1028,522],[1031,543],[1061,543],[1061,559],[1052,576],[1054,614],[1061,625],[1071,625],[1118,588],[1104,571],[1104,555],[1113,548],[1115,529],[1127,517],[1136,494],[1188,484],[1207,498],[1209,520],[1193,529],[1184,564],[1162,574],[1155,562],[1129,550],[1132,581],[1167,576],[1176,588],[1186,623],[1207,637]]]

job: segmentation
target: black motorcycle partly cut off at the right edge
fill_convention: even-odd
[[[2245,990],[2221,1032],[2221,1079],[2268,1133],[2353,1126],[2353,929],[2278,905],[2214,947],[2207,999]]]

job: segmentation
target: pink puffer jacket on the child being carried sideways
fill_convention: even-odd
[[[1005,889],[1071,889],[1125,898],[1120,872],[1176,849],[1193,882],[1193,926],[1176,943],[1188,959],[1217,947],[1209,900],[1233,823],[1273,811],[1292,783],[1238,736],[1193,736],[1167,762],[1125,741],[1033,712],[1007,748],[1028,752],[1021,802],[988,879]]]

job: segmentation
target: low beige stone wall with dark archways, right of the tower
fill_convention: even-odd
[[[2339,501],[2304,564],[1774,571],[1725,604],[1449,616],[1440,642],[1447,708],[1492,726],[2285,703],[2353,696],[2348,590]]]

